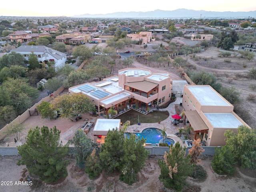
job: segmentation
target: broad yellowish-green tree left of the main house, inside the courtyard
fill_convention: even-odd
[[[60,117],[74,118],[78,114],[93,111],[94,103],[82,93],[64,94],[52,100],[52,109],[61,109]]]

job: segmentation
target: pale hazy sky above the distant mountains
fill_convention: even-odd
[[[116,3],[114,3],[116,2]],[[148,4],[137,4],[149,2]],[[114,12],[146,12],[160,10],[176,10],[180,8],[206,11],[254,11],[256,0],[182,0],[182,1],[21,1],[12,0],[0,7],[0,16],[74,16],[81,14],[107,14]],[[4,7],[4,8],[3,8]],[[254,16],[253,16],[254,17]]]

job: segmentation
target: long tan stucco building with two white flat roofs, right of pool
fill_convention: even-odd
[[[240,125],[250,128],[233,112],[234,106],[209,85],[185,85],[182,106],[185,121],[206,146],[224,146],[226,130],[237,133]]]

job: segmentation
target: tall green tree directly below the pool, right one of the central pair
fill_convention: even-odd
[[[136,138],[131,134],[129,138],[124,140],[124,156],[122,158],[122,172],[120,180],[126,184],[132,185],[136,182],[138,172],[144,167],[148,158],[148,151],[144,148],[146,140]]]

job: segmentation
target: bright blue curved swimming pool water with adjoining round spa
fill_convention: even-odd
[[[151,143],[151,144],[159,143],[159,141],[162,140],[162,138],[163,138],[161,135],[161,130],[157,129],[157,128],[146,128],[146,129],[142,130],[141,133],[134,133],[134,134],[136,134],[138,137],[140,136],[140,139],[141,138],[146,139],[146,143]],[[174,144],[174,140],[172,140],[170,138],[166,138],[166,139],[164,139],[164,143]]]

